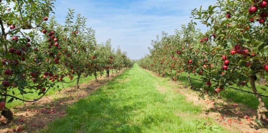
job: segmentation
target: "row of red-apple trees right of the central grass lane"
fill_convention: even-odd
[[[174,35],[162,33],[152,41],[150,54],[138,64],[158,75],[172,75],[174,81],[187,73],[191,89],[217,97],[228,86],[246,86],[259,101],[257,120],[267,123],[267,107],[256,89],[256,80],[266,84],[268,73],[267,0],[219,0],[208,9],[194,9],[192,21]],[[196,29],[197,19],[209,29]],[[203,85],[195,87],[190,73],[200,75]],[[249,85],[248,85],[249,83]],[[214,92],[208,91],[213,88]]]

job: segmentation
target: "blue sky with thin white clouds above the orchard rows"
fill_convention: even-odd
[[[87,26],[96,30],[98,43],[112,39],[131,59],[148,53],[151,40],[162,31],[173,34],[187,24],[191,10],[202,5],[207,9],[216,0],[57,0],[56,20],[64,23],[68,8],[88,18]],[[206,26],[198,24],[198,28]]]

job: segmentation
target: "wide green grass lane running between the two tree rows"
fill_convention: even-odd
[[[41,132],[228,132],[211,119],[200,118],[202,107],[187,102],[167,83],[135,64],[70,105],[65,117],[51,122]]]

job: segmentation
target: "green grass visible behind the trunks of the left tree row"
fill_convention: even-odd
[[[105,73],[104,73],[105,75]],[[74,76],[73,79],[76,79],[77,78],[77,75]],[[87,78],[83,78],[83,79],[80,79],[79,80],[79,84],[81,83],[88,83],[90,80],[93,80],[95,79],[95,76],[88,76]],[[64,77],[64,81],[65,82],[70,82],[71,80],[68,78],[68,77]],[[59,89],[64,89],[64,88],[68,88],[68,87],[73,87],[74,85],[76,84],[76,81],[72,82],[72,83],[56,83],[55,86],[59,85],[59,88],[50,88],[49,91],[46,93],[46,96],[49,96],[49,95],[53,95],[55,94],[55,92],[57,92]],[[19,95],[20,94],[20,91],[18,89],[11,89],[9,90],[9,94],[13,95],[11,91],[14,91],[15,92],[15,95],[14,96],[17,96],[18,98],[21,98],[23,99],[23,96],[24,96],[24,99],[25,100],[33,100],[33,99],[37,99],[39,98],[41,95],[38,96],[38,93],[39,91],[35,91],[35,90],[30,90],[30,89],[25,89],[25,91],[33,91],[34,93],[27,93],[27,94],[24,94],[23,96],[22,95]],[[7,101],[10,99],[11,97],[8,97],[7,98]],[[23,101],[21,100],[16,100],[14,99],[11,103],[7,103],[6,104],[6,107],[7,108],[14,108],[16,106],[21,106],[23,105]]]

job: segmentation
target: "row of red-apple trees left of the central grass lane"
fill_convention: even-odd
[[[74,10],[69,9],[64,24],[55,21],[53,0],[0,2],[0,111],[8,122],[13,117],[5,104],[27,101],[14,95],[15,90],[41,98],[50,88],[58,88],[55,83],[66,83],[64,77],[76,81],[78,89],[80,78],[96,78],[105,71],[109,76],[109,70],[133,64],[126,52],[111,48],[111,40],[97,44],[95,30],[85,25],[87,18]]]

